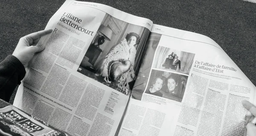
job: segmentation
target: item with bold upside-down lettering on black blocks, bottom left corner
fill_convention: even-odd
[[[55,130],[47,122],[29,116],[16,107],[9,105],[0,109],[0,134],[2,136],[70,136]]]

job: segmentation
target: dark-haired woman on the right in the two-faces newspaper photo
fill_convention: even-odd
[[[168,98],[175,101],[182,101],[180,98],[179,85],[181,84],[180,76],[177,74],[170,75],[166,80],[167,89],[166,91],[160,91],[163,94],[163,98]]]

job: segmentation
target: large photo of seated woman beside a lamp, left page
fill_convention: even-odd
[[[106,14],[78,72],[130,95],[150,31]]]

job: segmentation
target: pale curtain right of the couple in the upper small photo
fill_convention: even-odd
[[[182,72],[189,72],[189,69],[192,67],[193,60],[195,54],[189,52],[181,52],[180,54],[180,61],[181,61],[181,71]]]

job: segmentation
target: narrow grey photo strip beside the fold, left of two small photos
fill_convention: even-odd
[[[146,88],[149,73],[152,67],[154,54],[157,49],[158,43],[160,41],[162,35],[157,33],[150,34],[148,38],[147,49],[140,65],[140,70],[136,78],[136,82],[134,83],[134,87],[131,91],[131,98],[141,100],[144,90]]]

